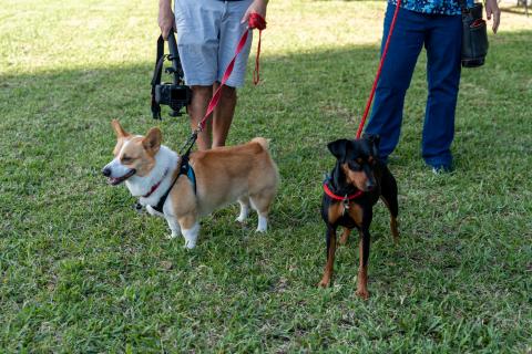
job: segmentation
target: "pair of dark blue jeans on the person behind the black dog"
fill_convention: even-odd
[[[382,49],[395,6],[388,4]],[[399,142],[405,95],[424,44],[429,95],[424,112],[422,156],[431,166],[452,164],[454,111],[460,83],[462,22],[460,15],[426,14],[400,9],[386,62],[377,85],[366,133],[380,135],[386,162]]]

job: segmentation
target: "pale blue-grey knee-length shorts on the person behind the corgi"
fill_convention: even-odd
[[[252,1],[175,0],[177,48],[188,86],[222,81],[247,28],[241,21]],[[250,34],[226,82],[228,86],[244,85]]]

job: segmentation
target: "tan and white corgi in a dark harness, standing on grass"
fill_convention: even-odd
[[[237,221],[244,222],[253,208],[258,214],[257,231],[266,231],[279,174],[265,138],[183,158],[161,145],[156,127],[142,136],[127,133],[116,119],[111,125],[116,134],[114,158],[102,174],[112,186],[125,183],[151,215],[163,216],[171,238],[183,235],[185,247],[194,248],[200,218],[235,201],[241,205]]]

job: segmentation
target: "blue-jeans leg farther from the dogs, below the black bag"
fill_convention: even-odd
[[[436,168],[449,169],[454,137],[454,111],[460,83],[462,21],[460,15],[434,15],[428,31],[427,81],[422,156]]]

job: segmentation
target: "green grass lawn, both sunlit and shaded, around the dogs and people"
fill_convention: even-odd
[[[273,139],[272,229],[256,235],[255,216],[237,226],[228,207],[185,251],[99,174],[112,118],[141,134],[158,124],[173,148],[187,136],[185,118],[150,117],[155,2],[2,1],[0,352],[530,352],[532,20],[520,14],[504,12],[488,64],[463,71],[451,175],[420,158],[421,55],[390,164],[401,242],[379,205],[370,300],[355,295],[352,240],[334,287],[315,287],[326,143],[355,135],[382,10],[272,1],[264,82],[241,91],[229,135]]]

